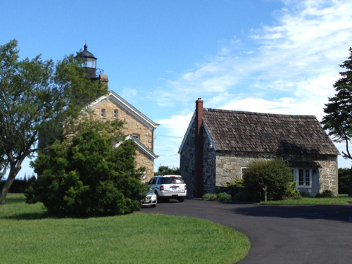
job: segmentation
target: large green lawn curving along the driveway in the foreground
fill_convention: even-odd
[[[244,234],[197,218],[133,213],[48,218],[42,205],[8,194],[0,206],[0,263],[235,263],[249,251]]]

